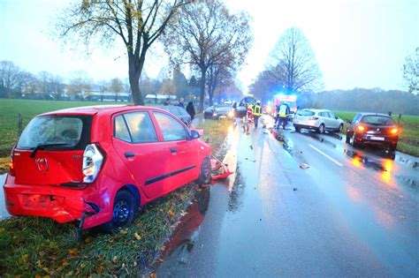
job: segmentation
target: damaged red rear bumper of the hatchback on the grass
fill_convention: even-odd
[[[83,190],[74,190],[58,186],[14,184],[10,175],[4,184],[4,200],[6,209],[11,215],[42,216],[57,222],[81,220],[84,216],[83,229],[94,227],[106,222],[108,215],[99,206],[97,214],[92,207],[93,202],[85,199]],[[94,204],[94,203],[93,203]]]

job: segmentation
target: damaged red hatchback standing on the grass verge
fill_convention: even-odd
[[[11,154],[4,184],[12,215],[80,221],[106,231],[184,184],[210,180],[210,146],[163,109],[95,106],[34,119]]]

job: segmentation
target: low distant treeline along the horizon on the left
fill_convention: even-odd
[[[209,71],[209,77],[212,78],[212,74],[213,72]],[[229,79],[215,79],[213,82],[209,82],[208,79],[207,91],[212,90],[213,94],[217,93],[217,101],[226,98],[239,98],[241,95],[233,77],[231,75],[228,77]],[[194,100],[200,96],[200,81],[194,75],[187,79],[180,70],[180,66],[177,65],[171,71],[163,69],[156,79],[149,78],[147,73],[143,72],[139,86],[144,95],[167,94],[177,95],[179,99]],[[215,85],[215,82],[219,83]],[[110,92],[115,94],[115,101],[120,101],[118,94],[130,91],[127,79],[114,78],[95,82],[86,71],[75,71],[72,73],[71,79],[65,79],[48,71],[33,74],[21,70],[11,61],[0,61],[0,97],[19,98],[23,96],[30,99],[56,100],[69,97],[82,100],[91,92],[97,92],[101,94],[99,100],[103,100],[103,94]]]

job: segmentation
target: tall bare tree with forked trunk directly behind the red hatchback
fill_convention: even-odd
[[[146,54],[185,0],[77,1],[57,19],[62,37],[87,46],[110,45],[118,38],[126,47],[128,76],[135,104],[143,104],[139,79]]]

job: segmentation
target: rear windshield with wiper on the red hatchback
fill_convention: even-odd
[[[34,149],[40,145],[65,144],[76,147],[81,139],[83,121],[75,116],[37,116],[23,131],[18,149]]]

